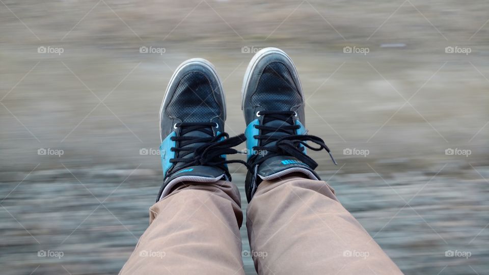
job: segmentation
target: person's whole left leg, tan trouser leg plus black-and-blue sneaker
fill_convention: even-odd
[[[162,185],[151,224],[122,274],[243,273],[240,197],[225,155],[244,135],[224,132],[226,102],[214,66],[190,59],[172,75],[160,109]]]

